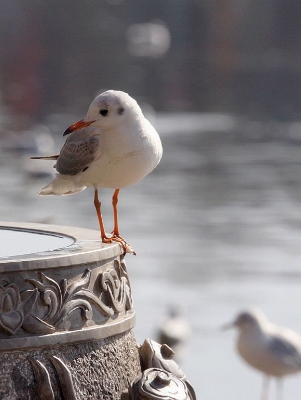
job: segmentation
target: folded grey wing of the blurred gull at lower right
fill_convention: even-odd
[[[301,367],[300,349],[287,339],[273,336],[268,347],[274,357],[280,361],[292,367]]]

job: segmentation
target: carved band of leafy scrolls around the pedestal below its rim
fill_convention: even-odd
[[[25,280],[34,289],[21,293],[15,284],[0,279],[0,331],[14,335],[22,328],[29,333],[47,334],[59,330],[76,309],[81,310],[83,321],[93,318],[92,305],[105,317],[131,309],[133,300],[126,265],[123,261],[114,263],[117,271],[112,268],[96,279],[99,297],[87,289],[91,280],[89,269],[79,280],[62,279],[59,284],[39,272],[38,279]]]

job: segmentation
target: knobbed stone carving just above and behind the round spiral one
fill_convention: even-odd
[[[160,345],[151,339],[146,339],[138,349],[142,371],[149,368],[162,369],[180,379],[187,386],[189,399],[196,400],[195,392],[187,381],[185,374],[173,360],[174,351],[167,344]]]

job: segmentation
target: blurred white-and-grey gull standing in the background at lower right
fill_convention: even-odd
[[[223,328],[233,326],[239,328],[239,354],[248,364],[265,374],[261,399],[267,400],[269,397],[271,377],[277,379],[277,399],[282,399],[282,378],[301,371],[301,336],[269,322],[259,309],[241,312],[234,322]]]

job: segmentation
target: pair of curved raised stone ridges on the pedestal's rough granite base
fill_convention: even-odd
[[[62,399],[76,400],[76,393],[69,368],[58,357],[51,354],[47,354],[47,357],[54,367]],[[33,368],[39,400],[54,400],[53,388],[46,367],[39,360],[36,360],[33,357],[28,356],[28,360]]]

